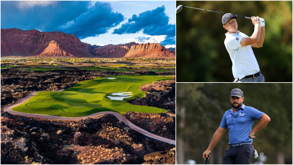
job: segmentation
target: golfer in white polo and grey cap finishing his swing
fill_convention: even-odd
[[[262,47],[265,39],[265,20],[251,17],[254,32],[251,37],[237,30],[237,16],[231,13],[222,16],[223,28],[228,32],[225,34],[225,46],[232,60],[232,73],[234,82],[265,82],[259,64],[251,47]],[[260,21],[259,21],[260,20]]]

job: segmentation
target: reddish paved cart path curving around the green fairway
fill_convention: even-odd
[[[61,90],[60,90],[61,91]],[[164,141],[166,143],[175,145],[175,140],[171,140],[171,139],[167,139],[167,138],[163,138],[161,136],[155,135],[155,134],[151,134],[150,132],[147,132],[146,130],[143,130],[142,128],[137,127],[136,125],[132,124],[129,120],[127,120],[125,117],[123,117],[121,114],[116,113],[116,112],[97,112],[88,116],[83,116],[83,117],[60,117],[60,116],[51,116],[51,115],[42,115],[42,114],[33,114],[33,113],[23,113],[23,112],[16,112],[13,111],[12,108],[16,107],[18,105],[21,105],[25,102],[27,102],[31,97],[33,97],[34,95],[36,95],[38,92],[40,91],[35,91],[32,92],[30,95],[28,95],[27,97],[24,97],[22,100],[20,100],[19,102],[17,102],[16,104],[13,105],[9,105],[8,107],[5,107],[3,110],[6,112],[9,112],[13,115],[19,115],[19,116],[27,116],[27,117],[39,117],[39,118],[46,118],[46,119],[55,119],[55,120],[81,120],[81,119],[86,119],[86,118],[95,118],[97,116],[101,116],[104,114],[111,114],[117,117],[117,119],[123,123],[125,123],[126,125],[128,125],[131,129],[136,130],[150,138],[154,138],[157,139],[159,141]]]

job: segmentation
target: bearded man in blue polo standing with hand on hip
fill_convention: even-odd
[[[238,88],[231,91],[230,101],[233,108],[225,112],[220,127],[215,132],[208,149],[203,153],[203,157],[204,159],[210,157],[209,153],[228,128],[230,148],[226,149],[222,164],[250,164],[252,156],[257,157],[252,138],[255,138],[254,134],[269,123],[270,118],[265,113],[242,104],[243,92]],[[255,119],[259,120],[259,123],[251,130]]]

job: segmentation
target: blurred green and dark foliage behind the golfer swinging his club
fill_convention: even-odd
[[[176,1],[178,5],[265,19],[263,46],[252,48],[265,82],[292,82],[292,1]],[[186,7],[176,14],[177,82],[234,81],[222,16]],[[251,36],[251,20],[236,20],[238,30]]]

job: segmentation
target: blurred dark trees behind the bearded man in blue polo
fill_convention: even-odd
[[[224,113],[231,109],[230,91],[240,88],[244,105],[266,113],[271,121],[257,132],[253,145],[269,164],[292,164],[292,83],[177,83],[176,159],[179,164],[195,160],[203,164],[208,148]],[[255,120],[252,128],[259,123]],[[212,149],[208,164],[222,164],[229,148],[229,130]],[[259,158],[254,157],[251,164]]]

